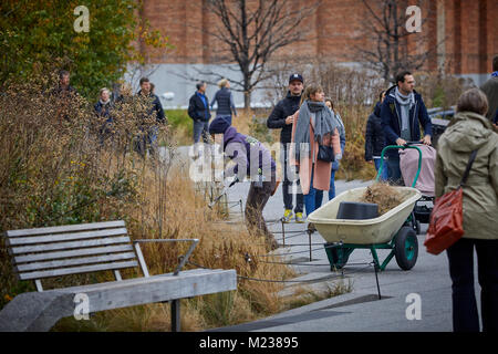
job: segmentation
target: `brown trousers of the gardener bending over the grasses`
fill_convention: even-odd
[[[274,176],[270,181],[263,181],[261,187],[258,187],[256,181],[251,183],[249,194],[246,201],[246,226],[249,233],[256,236],[264,236],[267,239],[272,239],[273,235],[268,230],[267,222],[262,216],[262,210],[270,199],[271,192],[276,187]]]

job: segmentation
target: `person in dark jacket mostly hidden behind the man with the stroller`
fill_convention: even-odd
[[[381,107],[385,98],[385,91],[382,91],[378,95],[378,102],[375,104],[375,108],[366,121],[365,131],[365,162],[373,163],[375,170],[378,171],[381,167],[382,149],[385,147],[384,131],[382,128]],[[387,164],[382,167],[381,181],[387,180]]]

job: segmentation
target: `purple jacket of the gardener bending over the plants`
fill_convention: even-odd
[[[243,166],[246,166],[246,175],[250,176],[251,180],[257,180],[258,175],[261,174],[264,175],[266,180],[269,180],[271,173],[276,170],[270,152],[253,137],[238,133],[234,126],[228,127],[224,134],[224,152],[227,157],[237,163],[231,171],[226,171],[226,177],[237,174],[242,180],[246,177],[243,175]]]

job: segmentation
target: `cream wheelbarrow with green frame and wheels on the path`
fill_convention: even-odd
[[[376,181],[382,174],[384,153],[390,148],[416,148],[422,157],[422,152],[416,146],[386,146],[382,150],[382,164]],[[374,266],[381,271],[385,270],[393,258],[403,270],[409,270],[415,266],[418,257],[418,241],[414,230],[413,209],[422,194],[414,187],[421,171],[421,162],[422,158],[412,187],[394,187],[402,194],[404,201],[380,217],[363,220],[336,218],[341,202],[359,201],[366,187],[346,190],[310,214],[308,221],[314,223],[326,241],[324,248],[331,270],[343,268],[355,249],[370,250]],[[377,254],[377,250],[381,249],[391,250],[382,263]]]

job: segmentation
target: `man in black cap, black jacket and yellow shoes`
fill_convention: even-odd
[[[292,74],[289,77],[289,91],[287,96],[281,100],[271,112],[267,121],[267,126],[270,129],[282,129],[280,132],[280,143],[283,145],[281,158],[283,158],[283,183],[282,183],[282,194],[283,194],[283,221],[289,222],[292,219],[292,183],[295,181],[299,191],[295,194],[295,222],[304,222],[302,218],[304,197],[299,187],[299,177],[297,171],[293,176],[289,176],[288,168],[293,168],[288,164],[288,154],[292,136],[292,115],[299,110],[299,104],[301,102],[301,94],[304,88],[303,79],[300,74]],[[292,180],[289,177],[293,177]]]

